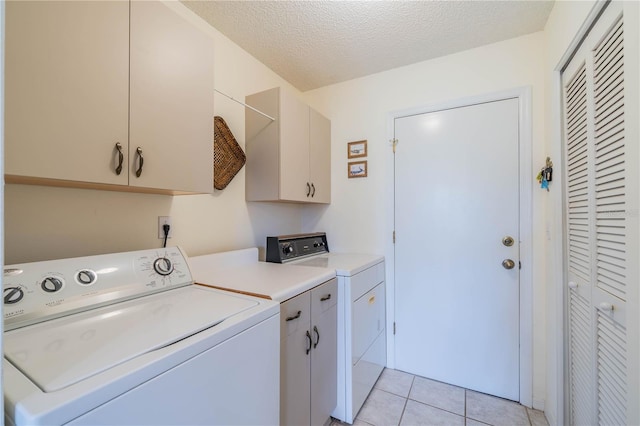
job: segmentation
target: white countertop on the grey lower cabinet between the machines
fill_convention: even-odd
[[[249,261],[234,262],[229,253],[190,258],[197,284],[284,302],[336,276],[335,269]],[[219,257],[224,255],[225,264]],[[231,266],[228,266],[231,265]]]

